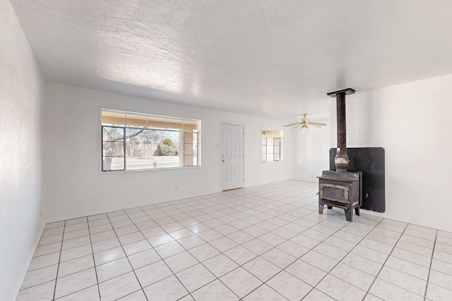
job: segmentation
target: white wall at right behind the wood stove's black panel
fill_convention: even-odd
[[[383,147],[381,216],[452,231],[452,75],[349,95],[347,147]],[[335,106],[331,106],[335,146]]]

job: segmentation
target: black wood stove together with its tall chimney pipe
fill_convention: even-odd
[[[342,208],[345,219],[353,220],[353,209],[360,214],[362,205],[362,172],[347,171],[350,159],[347,155],[347,128],[345,124],[345,95],[353,94],[355,90],[345,89],[329,92],[328,96],[336,97],[338,116],[338,148],[334,158],[335,171],[323,171],[319,178],[319,214],[323,207]]]

